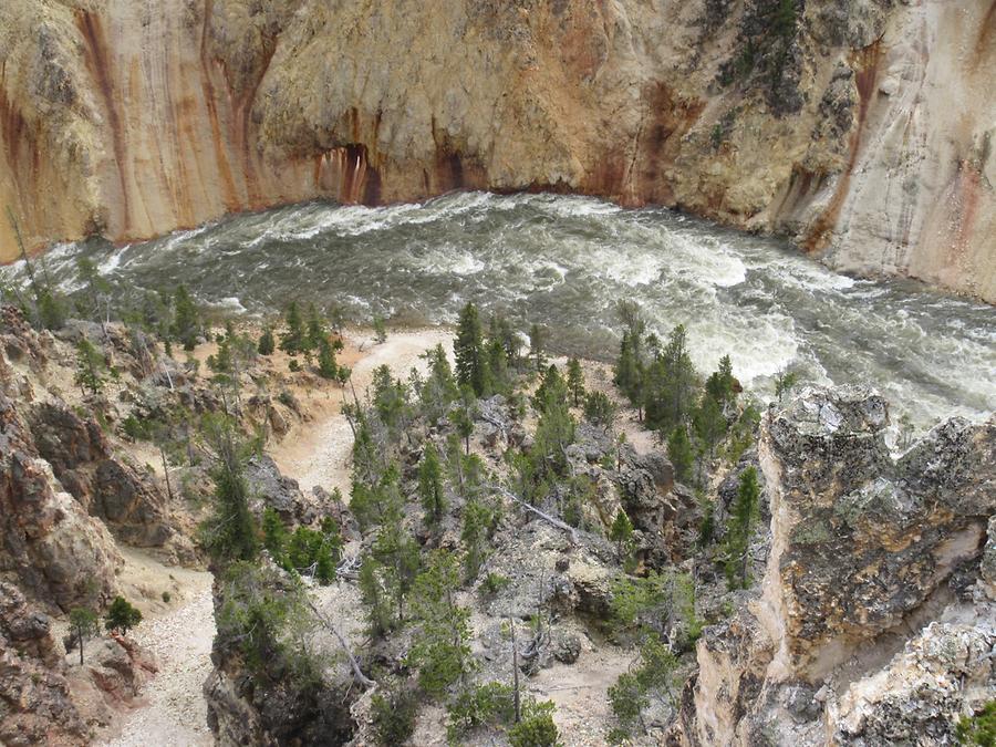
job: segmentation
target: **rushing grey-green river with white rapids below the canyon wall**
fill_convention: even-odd
[[[813,383],[872,384],[921,428],[996,407],[996,309],[855,280],[777,239],[663,208],[486,193],[381,208],[311,203],[123,248],[60,246],[45,262],[66,289],[80,252],[122,289],[185,283],[203,303],[255,314],[297,298],[339,303],[361,322],[448,324],[473,300],[523,332],[544,324],[557,352],[601,360],[618,349],[616,301],[632,299],[662,338],[686,325],[702,372],[729,353],[760,398],[793,367]]]

